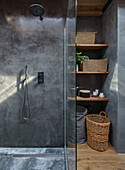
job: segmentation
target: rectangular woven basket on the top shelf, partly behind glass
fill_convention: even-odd
[[[94,44],[97,32],[77,32],[77,44]],[[70,34],[71,43],[75,43],[74,33]]]

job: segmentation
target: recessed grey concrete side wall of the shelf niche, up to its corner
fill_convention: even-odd
[[[109,75],[103,86],[103,91],[109,98],[106,113],[111,121],[110,142],[117,149],[117,119],[118,119],[118,56],[117,56],[117,1],[114,0],[102,17],[102,42],[110,46],[104,58],[109,58]]]

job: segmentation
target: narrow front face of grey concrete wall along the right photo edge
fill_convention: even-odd
[[[118,148],[125,153],[125,1],[118,0]]]

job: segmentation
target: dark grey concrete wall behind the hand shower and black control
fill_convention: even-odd
[[[42,22],[28,13],[31,2],[23,3],[6,0],[0,6],[0,147],[63,146],[64,20],[53,10],[56,1]],[[15,87],[25,65],[31,110],[27,121],[22,118],[24,91]],[[37,83],[39,71],[45,74],[44,85]]]

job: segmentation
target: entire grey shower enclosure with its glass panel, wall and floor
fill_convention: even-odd
[[[76,169],[75,8],[0,1],[0,170]]]

